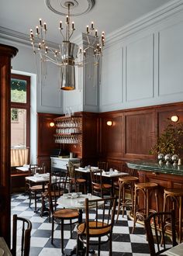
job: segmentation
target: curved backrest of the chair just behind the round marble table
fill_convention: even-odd
[[[90,170],[91,178],[91,191],[92,195],[101,195],[102,196],[102,170],[93,171]]]

